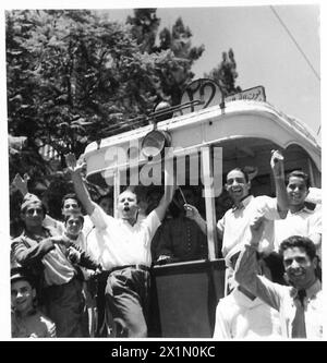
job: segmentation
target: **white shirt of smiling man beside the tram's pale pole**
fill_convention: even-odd
[[[267,220],[259,243],[261,251],[271,252],[274,250],[274,221],[280,219],[277,209],[277,198],[266,195],[249,195],[242,201],[243,208],[230,208],[223,217],[218,220],[217,228],[222,233],[222,256],[225,257],[231,249],[238,244],[244,244],[250,240],[250,223],[257,216],[264,216]]]

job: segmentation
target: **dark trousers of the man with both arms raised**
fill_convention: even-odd
[[[121,330],[118,335],[147,337],[149,281],[149,271],[131,267],[109,274],[106,304],[116,327]]]

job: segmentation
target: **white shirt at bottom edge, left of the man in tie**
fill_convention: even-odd
[[[235,288],[216,308],[214,339],[280,339],[278,312]]]

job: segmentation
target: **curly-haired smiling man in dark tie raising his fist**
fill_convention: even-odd
[[[251,223],[250,244],[245,244],[235,266],[234,278],[279,312],[284,338],[323,338],[324,301],[322,283],[316,276],[315,244],[305,237],[292,235],[279,247],[291,286],[274,283],[257,275],[256,253],[264,230],[264,217]]]

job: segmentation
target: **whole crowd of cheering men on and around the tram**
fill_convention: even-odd
[[[251,195],[246,171],[228,172],[231,207],[219,218],[226,295],[216,310],[214,339],[323,337],[322,208],[307,207],[308,177],[284,177],[283,157],[271,154],[276,197]],[[142,199],[126,187],[117,201],[92,201],[83,164],[66,155],[75,194],[62,199],[62,220],[24,195],[22,234],[12,240],[12,337],[148,336],[154,264],[206,259],[207,226],[194,189],[175,185]],[[82,214],[82,207],[86,215]]]

